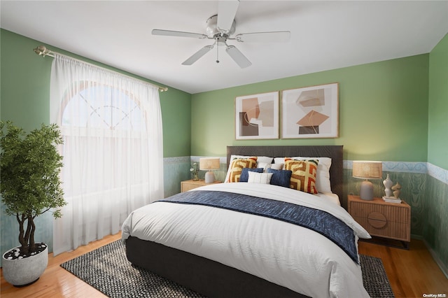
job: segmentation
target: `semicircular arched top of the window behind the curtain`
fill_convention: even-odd
[[[62,114],[62,127],[91,127],[120,131],[146,131],[138,101],[123,90],[92,85],[71,93]]]

